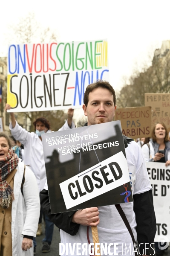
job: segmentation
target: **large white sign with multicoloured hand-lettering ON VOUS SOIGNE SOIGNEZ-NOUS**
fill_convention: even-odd
[[[98,79],[109,80],[107,40],[9,45],[8,112],[80,108]]]

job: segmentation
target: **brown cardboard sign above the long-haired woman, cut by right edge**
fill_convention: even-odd
[[[152,107],[152,127],[163,122],[170,131],[170,93],[145,93],[144,102]]]

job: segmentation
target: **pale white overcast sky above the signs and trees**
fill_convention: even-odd
[[[170,39],[169,0],[6,0],[0,10],[0,56],[7,52],[9,25],[28,12],[55,29],[58,41],[107,38],[110,83],[117,91],[124,76],[130,77],[148,53]]]

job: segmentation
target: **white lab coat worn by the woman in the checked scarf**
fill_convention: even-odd
[[[14,176],[14,200],[12,201],[12,256],[33,256],[33,247],[27,251],[21,248],[23,235],[36,236],[40,215],[40,197],[35,175],[26,166],[23,195],[20,187],[24,163],[19,160]]]

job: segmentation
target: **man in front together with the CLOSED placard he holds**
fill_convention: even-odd
[[[133,247],[137,240],[136,223],[140,229],[138,243],[150,246],[156,232],[150,180],[141,149],[133,140],[125,137],[123,140],[120,121],[111,122],[115,108],[115,92],[108,82],[90,84],[83,105],[87,126],[67,133],[44,134],[42,138],[48,192],[45,186],[41,201],[44,211],[61,229],[61,243],[70,243],[73,248],[75,241],[92,242],[92,233],[87,233],[85,226],[98,226],[100,249],[103,250],[102,244],[107,247],[105,255],[113,252],[125,255],[125,245]],[[141,255],[148,254],[144,248],[140,247]],[[78,255],[78,251],[69,255]]]

